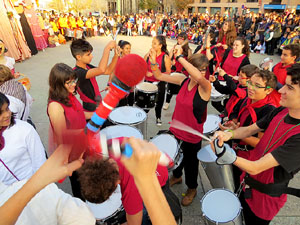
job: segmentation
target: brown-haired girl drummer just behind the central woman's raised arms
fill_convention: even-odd
[[[185,32],[181,32],[178,37],[177,37],[177,43],[176,45],[182,45],[182,49],[183,49],[183,55],[185,57],[185,59],[188,59],[191,55],[192,55],[192,50],[189,47],[189,42],[186,41],[188,40],[188,37],[186,35]],[[173,54],[173,50],[176,47],[176,45],[174,45],[174,47],[171,49],[170,52],[170,58],[172,60],[172,67],[171,67],[171,72],[177,72],[177,73],[182,73],[186,76],[188,76],[188,72],[183,68],[183,66],[174,58],[174,54]],[[169,108],[172,96],[174,94],[178,94],[180,87],[178,85],[174,85],[174,84],[169,84],[167,85],[167,97],[166,97],[166,103],[163,106],[164,110],[167,110]]]

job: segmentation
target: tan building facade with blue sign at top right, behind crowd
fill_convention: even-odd
[[[300,12],[299,0],[194,0],[188,5],[188,13],[205,13],[220,15],[227,13],[241,15],[243,9],[254,13],[269,11],[283,12],[285,9],[293,9]]]

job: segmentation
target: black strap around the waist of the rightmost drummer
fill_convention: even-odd
[[[245,183],[255,190],[270,195],[272,197],[279,197],[282,194],[294,195],[300,198],[300,189],[288,187],[286,183],[278,184],[263,184],[247,174],[245,176]]]

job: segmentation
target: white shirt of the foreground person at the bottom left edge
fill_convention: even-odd
[[[16,193],[27,180],[6,186],[0,182],[0,206]],[[23,209],[16,225],[95,225],[95,218],[78,198],[50,184]]]

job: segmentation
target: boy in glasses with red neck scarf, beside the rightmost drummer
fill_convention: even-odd
[[[231,129],[234,132],[239,126],[249,126],[273,111],[275,106],[270,93],[276,88],[276,83],[274,73],[268,70],[257,71],[247,81],[248,97],[241,103],[238,116],[226,122],[224,126],[220,124],[220,128],[222,130]],[[262,135],[260,133],[244,139],[234,139],[232,147],[238,156],[249,159]],[[233,167],[233,175],[235,186],[238,188],[241,171],[235,166]]]

